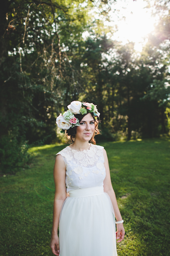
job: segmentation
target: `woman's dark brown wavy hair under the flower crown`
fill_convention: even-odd
[[[79,120],[79,122],[81,122],[81,120],[83,119],[84,116],[86,116],[88,113],[82,115],[82,114],[76,114],[75,117]],[[92,115],[92,114],[91,114]],[[98,123],[99,121],[97,119],[95,119],[95,117],[92,115],[94,121],[95,121],[95,131],[93,133],[93,136],[91,138],[91,140],[89,142],[91,142],[92,144],[96,144],[96,141],[94,139],[95,135],[100,134],[100,130],[98,129]],[[75,140],[75,134],[76,134],[76,127],[74,126],[73,128],[69,128],[68,130],[65,131],[65,134],[67,135],[67,139],[71,142],[74,143]]]

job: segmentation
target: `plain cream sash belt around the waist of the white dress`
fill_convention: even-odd
[[[96,196],[104,193],[103,187],[79,188],[69,191],[69,197]]]

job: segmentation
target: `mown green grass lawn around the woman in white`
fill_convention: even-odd
[[[105,142],[126,237],[118,255],[170,255],[170,140]],[[52,256],[55,154],[33,148],[30,169],[0,178],[0,256]],[[73,255],[68,255],[73,256]],[[80,255],[81,256],[81,255]],[[87,255],[88,256],[88,255]],[[107,255],[103,255],[107,256]]]

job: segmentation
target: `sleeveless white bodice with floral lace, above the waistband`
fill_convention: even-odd
[[[67,192],[79,188],[103,186],[106,176],[103,147],[91,144],[88,150],[77,151],[67,146],[61,154],[66,165]]]

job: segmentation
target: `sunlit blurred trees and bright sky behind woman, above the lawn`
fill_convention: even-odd
[[[17,0],[0,12],[1,173],[28,163],[29,147],[64,142],[55,119],[73,100],[97,105],[97,141],[169,136],[169,1]]]

